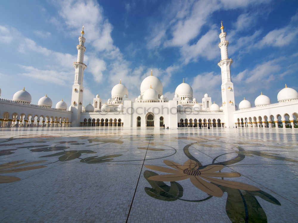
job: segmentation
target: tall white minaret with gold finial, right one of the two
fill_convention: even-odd
[[[218,66],[221,68],[221,97],[223,102],[223,112],[226,127],[234,126],[235,97],[234,84],[231,81],[230,65],[233,60],[228,57],[229,41],[226,40],[226,32],[224,32],[223,22],[221,21],[221,33],[219,34],[221,42],[218,47],[221,49],[221,61]]]

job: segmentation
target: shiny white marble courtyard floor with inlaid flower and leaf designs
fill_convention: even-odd
[[[0,128],[0,222],[297,222],[297,136]]]

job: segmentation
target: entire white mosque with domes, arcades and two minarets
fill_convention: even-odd
[[[84,27],[83,27],[84,28]],[[206,93],[201,101],[193,97],[192,87],[184,80],[175,90],[173,98],[163,95],[163,86],[159,78],[146,77],[140,86],[140,95],[129,98],[128,89],[121,83],[111,91],[111,99],[103,103],[96,95],[93,103],[83,106],[84,64],[84,29],[77,45],[77,62],[74,62],[75,76],[72,87],[72,101],[69,108],[63,99],[55,108],[52,100],[45,95],[38,100],[38,105],[31,104],[31,95],[24,89],[16,92],[12,100],[0,98],[1,127],[54,127],[54,126],[94,126],[106,127],[154,127],[169,128],[297,128],[298,92],[285,85],[277,95],[278,103],[271,103],[266,95],[259,95],[254,106],[248,100],[242,100],[237,107],[234,98],[234,85],[231,80],[230,65],[233,60],[228,57],[229,41],[221,23],[221,106],[212,103]],[[1,97],[1,89],[0,89]]]

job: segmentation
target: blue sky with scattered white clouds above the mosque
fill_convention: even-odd
[[[32,103],[47,93],[69,106],[84,25],[85,106],[96,94],[105,102],[120,78],[134,100],[150,69],[167,98],[184,78],[198,101],[207,92],[220,105],[221,20],[236,104],[261,91],[275,103],[285,84],[298,90],[297,1],[5,1],[0,16],[1,98],[25,86]]]

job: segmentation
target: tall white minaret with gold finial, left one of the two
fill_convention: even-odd
[[[83,103],[83,76],[86,65],[84,64],[84,52],[86,47],[84,46],[84,26],[82,28],[81,36],[79,37],[79,45],[77,45],[77,62],[74,62],[75,67],[75,83],[72,85],[72,126],[80,126],[80,115],[82,112]]]

